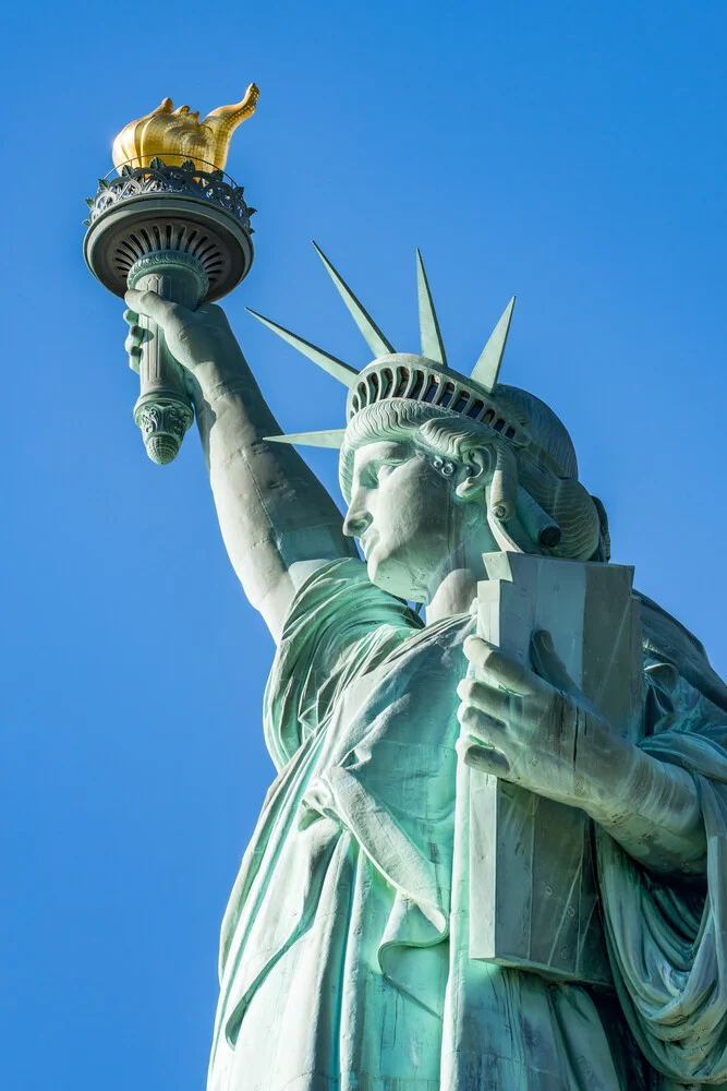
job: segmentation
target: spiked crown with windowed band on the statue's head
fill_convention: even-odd
[[[416,251],[416,279],[419,289],[419,319],[422,341],[421,356],[397,352],[385,337],[348,284],[334,268],[323,251],[313,245],[336,285],[343,302],[375,356],[372,363],[362,371],[337,359],[324,349],[291,333],[284,326],[271,322],[256,311],[250,313],[269,329],[282,337],[294,348],[316,363],[324,371],[348,387],[347,419],[377,401],[389,398],[404,398],[447,409],[449,412],[467,417],[492,431],[493,437],[506,440],[514,447],[531,445],[531,436],[522,415],[513,412],[507,398],[498,398],[497,386],[505,346],[507,344],[514,297],[506,307],[485,345],[472,373],[460,374],[447,364],[447,355],[434,308],[429,283],[420,251]],[[322,432],[298,432],[290,435],[270,435],[276,443],[294,443],[314,447],[340,447],[344,428]]]

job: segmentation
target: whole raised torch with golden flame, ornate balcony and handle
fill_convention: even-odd
[[[195,310],[227,296],[253,263],[255,212],[223,167],[234,129],[255,110],[255,84],[235,106],[201,122],[189,106],[165,98],[113,142],[113,165],[99,179],[89,207],[84,256],[97,280],[123,298],[128,288],[156,291]],[[162,331],[140,315],[144,329],[134,421],[149,458],[175,458],[194,419],[180,364]]]

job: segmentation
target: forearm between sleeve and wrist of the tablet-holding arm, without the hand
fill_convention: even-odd
[[[615,739],[607,759],[614,783],[587,814],[650,870],[702,874],[706,839],[692,777],[627,740]]]

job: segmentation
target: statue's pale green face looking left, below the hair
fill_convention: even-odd
[[[469,506],[455,502],[453,481],[413,444],[369,443],[354,454],[343,530],[360,539],[373,584],[428,602],[444,560],[462,540]]]

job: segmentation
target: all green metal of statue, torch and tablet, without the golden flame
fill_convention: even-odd
[[[208,1091],[727,1086],[727,686],[609,565],[564,424],[499,381],[512,301],[467,374],[421,255],[415,355],[320,254],[374,359],[263,319],[348,392],[343,428],[280,435],[197,307],[250,267],[250,209],[193,168],[104,183],[86,255],[130,286],[153,457],[198,393],[225,543],[278,645]],[[340,448],[343,520],[306,442]]]

